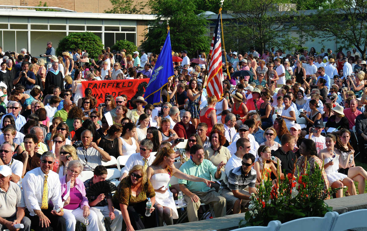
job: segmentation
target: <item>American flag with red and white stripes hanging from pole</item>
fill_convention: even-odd
[[[222,45],[219,14],[217,25],[215,25],[214,36],[211,41],[210,54],[212,54],[212,56],[209,64],[209,77],[206,89],[209,97],[215,95],[217,100],[219,100],[223,96]]]

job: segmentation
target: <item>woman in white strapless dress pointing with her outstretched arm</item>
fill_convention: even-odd
[[[185,179],[196,182],[204,182],[210,187],[213,181],[191,176],[176,169],[173,165],[175,162],[175,152],[171,148],[161,148],[153,161],[152,165],[146,170],[146,174],[150,183],[152,183],[156,192],[155,207],[158,217],[158,225],[163,226],[163,221],[166,225],[173,224],[173,219],[178,219],[176,204],[171,191],[168,189],[171,176],[179,179]]]

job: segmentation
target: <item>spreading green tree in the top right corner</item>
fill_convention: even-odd
[[[320,9],[298,17],[296,24],[309,40],[337,41],[347,50],[355,47],[366,58],[367,1],[333,1],[331,9]]]

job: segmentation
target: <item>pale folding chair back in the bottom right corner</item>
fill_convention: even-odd
[[[359,227],[367,227],[366,217],[367,209],[358,209],[347,213],[342,213],[334,222],[331,230],[344,231]]]

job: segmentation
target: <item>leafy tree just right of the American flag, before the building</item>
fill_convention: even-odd
[[[248,51],[255,46],[259,52],[272,46],[283,50],[300,47],[301,40],[291,36],[292,25],[287,23],[292,21],[295,11],[286,3],[286,0],[227,0],[224,9],[232,19],[224,28],[226,47]]]

